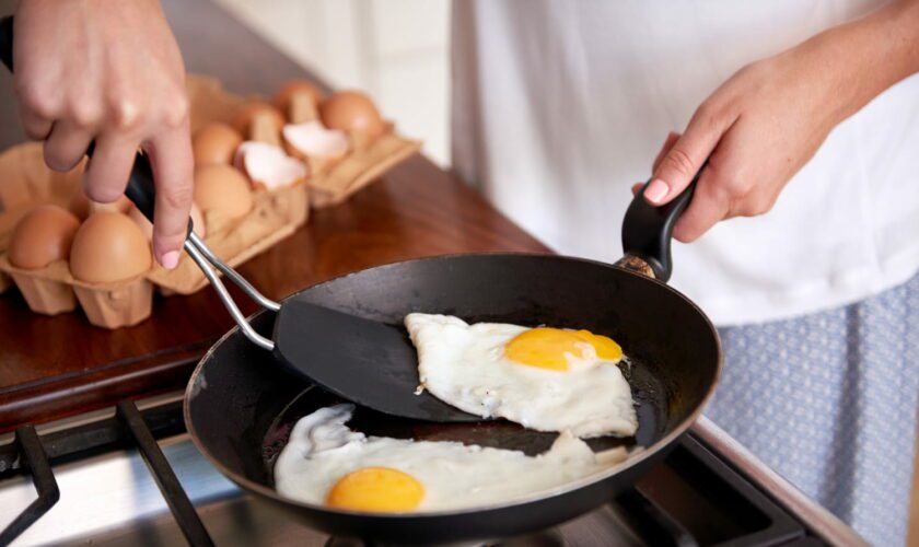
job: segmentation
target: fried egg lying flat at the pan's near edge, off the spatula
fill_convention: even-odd
[[[301,418],[275,463],[287,498],[349,511],[424,512],[501,504],[621,463],[624,447],[594,453],[562,433],[536,456],[458,442],[365,437],[345,426],[350,404]]]

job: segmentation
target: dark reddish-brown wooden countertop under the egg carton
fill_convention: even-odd
[[[11,2],[0,3],[10,12]],[[235,93],[270,94],[310,74],[207,0],[164,0],[189,72]],[[12,80],[0,74],[0,149],[24,140]],[[2,183],[0,183],[2,184]],[[314,211],[289,238],[240,267],[279,299],[349,271],[419,256],[547,251],[454,176],[416,155],[348,202]],[[239,292],[245,313],[255,306]],[[18,291],[0,295],[0,432],[182,387],[212,341],[233,325],[217,295],[158,298],[153,316],[105,330],[81,312],[46,317]]]

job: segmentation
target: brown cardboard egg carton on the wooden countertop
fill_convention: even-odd
[[[246,98],[226,93],[212,78],[189,77],[193,131],[212,121],[230,123]],[[239,219],[205,213],[208,246],[226,264],[237,266],[267,251],[306,222],[310,206],[339,203],[396,163],[414,154],[417,141],[398,137],[387,125],[369,140],[351,135],[349,153],[323,165],[305,183],[253,194],[252,210]],[[90,323],[105,328],[135,325],[152,313],[153,290],[165,295],[190,294],[208,284],[191,258],[182,255],[178,266],[165,270],[154,263],[146,274],[114,283],[86,283],[73,278],[66,260],[26,270],[10,264],[9,237],[16,222],[34,207],[55,203],[67,208],[81,191],[84,164],[68,173],[50,171],[40,143],[26,143],[0,153],[0,293],[19,287],[30,309],[55,315],[82,307]]]

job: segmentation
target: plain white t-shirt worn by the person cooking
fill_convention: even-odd
[[[883,2],[455,2],[453,162],[556,251],[615,261],[629,187],[741,67]],[[919,77],[839,125],[772,211],[674,244],[720,325],[861,300],[919,269]]]

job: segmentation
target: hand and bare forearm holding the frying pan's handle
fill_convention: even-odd
[[[678,196],[708,160],[674,237],[769,211],[829,131],[887,86],[919,70],[919,2],[894,2],[731,77],[671,133],[644,191]]]

